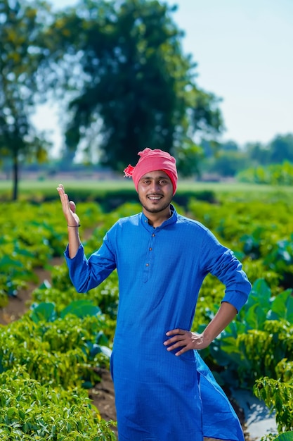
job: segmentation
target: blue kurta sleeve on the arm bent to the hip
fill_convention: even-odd
[[[202,241],[201,266],[204,273],[215,275],[226,286],[222,302],[229,302],[240,311],[252,285],[233,251],[223,247],[209,230]]]

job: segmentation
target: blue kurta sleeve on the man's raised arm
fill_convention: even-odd
[[[68,247],[64,254],[70,280],[77,292],[87,292],[100,285],[116,268],[115,253],[111,249],[108,234],[105,235],[100,249],[91,254],[89,259],[84,254],[82,244],[72,259],[70,259]]]

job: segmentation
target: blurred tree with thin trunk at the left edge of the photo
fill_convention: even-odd
[[[47,12],[42,4],[8,0],[0,4],[0,154],[13,164],[14,200],[18,198],[20,161],[44,161],[48,149],[30,123],[37,73],[46,56],[39,43]]]

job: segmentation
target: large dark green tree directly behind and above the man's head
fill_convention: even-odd
[[[157,0],[83,0],[58,14],[51,56],[76,57],[69,149],[82,141],[89,161],[99,151],[100,163],[121,170],[143,148],[162,148],[180,153],[184,173],[197,169],[194,135],[219,132],[221,113],[214,94],[195,84],[196,65],[183,55],[173,11]],[[183,163],[182,151],[193,167]]]

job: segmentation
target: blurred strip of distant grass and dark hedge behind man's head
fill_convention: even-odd
[[[62,183],[70,199],[75,202],[97,201],[104,211],[112,211],[125,202],[137,202],[134,183],[122,180],[22,180],[18,188],[18,201],[43,201],[59,199],[56,187]],[[194,182],[181,180],[174,196],[174,204],[187,207],[190,198],[214,203],[216,201],[262,201],[274,204],[292,200],[292,187],[271,187],[268,185],[249,185],[239,182]],[[11,201],[11,182],[0,181],[0,201]]]

